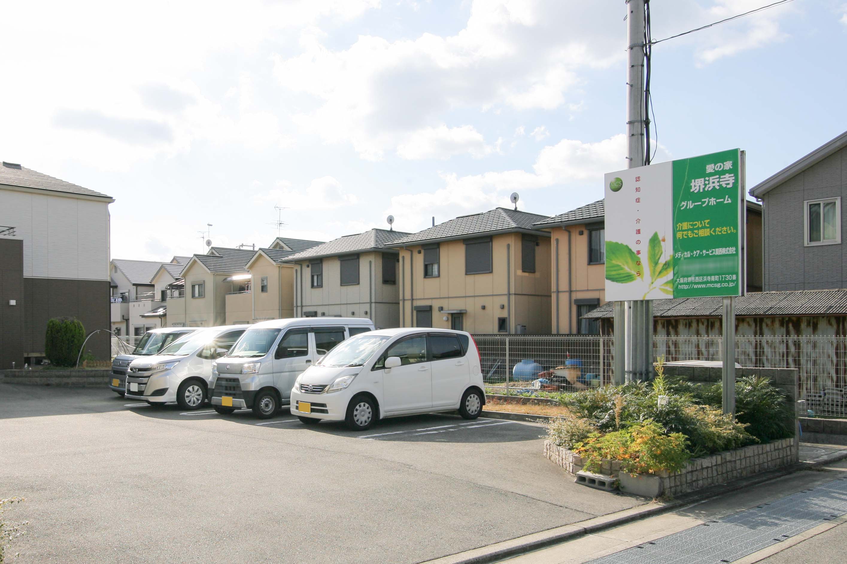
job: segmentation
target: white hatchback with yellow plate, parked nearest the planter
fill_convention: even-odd
[[[451,329],[379,329],[336,346],[291,390],[303,423],[346,421],[369,429],[377,419],[459,410],[475,419],[485,405],[479,350]]]

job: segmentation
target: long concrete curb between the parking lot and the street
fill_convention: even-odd
[[[503,412],[496,413],[504,414]],[[516,414],[505,413],[505,415]],[[602,515],[600,517],[586,519],[585,521],[562,525],[561,527],[528,534],[516,539],[504,540],[502,542],[495,543],[494,545],[482,546],[476,549],[459,552],[454,555],[441,556],[435,560],[423,561],[419,564],[488,564],[490,562],[501,561],[506,558],[532,552],[533,550],[557,545],[566,540],[576,539],[584,534],[597,533],[608,528],[614,528],[619,525],[638,521],[645,517],[653,517],[666,511],[672,511],[678,507],[690,506],[692,504],[699,503],[700,501],[717,497],[718,495],[725,495],[738,491],[739,489],[750,488],[751,486],[770,482],[771,480],[783,478],[784,476],[799,472],[800,470],[809,470],[811,468],[822,467],[833,462],[839,462],[845,458],[847,458],[847,450],[838,451],[830,456],[822,456],[820,459],[815,461],[797,462],[791,466],[772,470],[768,473],[761,473],[755,477],[742,478],[735,480],[734,482],[730,482],[729,484],[718,484],[711,488],[701,489],[698,492],[683,495],[678,499],[670,500],[665,503],[660,504],[653,501],[645,504],[644,506],[616,511],[608,515]]]

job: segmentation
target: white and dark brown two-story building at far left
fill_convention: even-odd
[[[111,196],[27,169],[0,165],[0,369],[44,356],[47,320],[108,329]],[[107,333],[86,351],[108,359]]]

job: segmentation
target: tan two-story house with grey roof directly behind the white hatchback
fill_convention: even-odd
[[[403,327],[550,333],[550,233],[545,215],[497,207],[394,242]]]

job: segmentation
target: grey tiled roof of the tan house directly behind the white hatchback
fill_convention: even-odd
[[[472,213],[453,218],[443,224],[418,231],[394,241],[394,246],[409,245],[424,241],[447,241],[474,235],[512,233],[535,230],[533,224],[547,218],[538,213],[520,212],[506,207],[495,207],[488,212]],[[542,232],[543,233],[543,232]],[[546,235],[546,234],[545,234]]]

